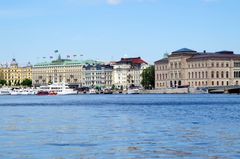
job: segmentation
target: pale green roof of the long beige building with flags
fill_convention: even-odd
[[[54,66],[74,66],[74,65],[94,65],[103,64],[103,62],[96,60],[69,60],[69,59],[58,59],[52,62],[41,62],[35,64],[33,67],[54,67]]]

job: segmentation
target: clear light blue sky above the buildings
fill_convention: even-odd
[[[239,0],[0,0],[0,63],[240,53]],[[80,56],[83,55],[83,56]],[[46,57],[46,59],[43,59]]]

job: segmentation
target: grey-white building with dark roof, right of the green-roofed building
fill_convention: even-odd
[[[84,66],[84,86],[86,87],[112,87],[113,67],[97,64]]]

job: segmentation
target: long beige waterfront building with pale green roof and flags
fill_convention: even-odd
[[[33,85],[68,83],[72,86],[81,87],[84,84],[83,66],[97,63],[99,62],[94,60],[62,59],[59,55],[57,60],[42,62],[33,66]]]

